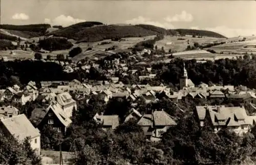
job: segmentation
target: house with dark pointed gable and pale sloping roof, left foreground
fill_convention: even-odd
[[[47,108],[47,113],[41,119],[37,127],[43,129],[45,125],[51,125],[54,130],[65,133],[71,123],[71,119],[63,112],[61,106],[56,103],[51,104]]]

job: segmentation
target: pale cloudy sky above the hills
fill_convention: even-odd
[[[143,23],[237,37],[256,35],[255,18],[256,1],[1,1],[2,24]]]

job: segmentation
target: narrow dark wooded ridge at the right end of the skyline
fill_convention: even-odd
[[[180,35],[195,35],[195,36],[204,36],[204,37],[215,37],[215,38],[226,38],[225,36],[211,32],[211,31],[204,31],[204,30],[194,30],[194,29],[176,29]]]

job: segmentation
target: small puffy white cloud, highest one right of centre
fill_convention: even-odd
[[[167,22],[191,22],[193,21],[193,15],[182,11],[181,14],[175,14],[172,17],[167,16],[164,20]]]

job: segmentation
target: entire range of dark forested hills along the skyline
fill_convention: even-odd
[[[226,38],[215,32],[190,29],[170,29],[166,30],[154,25],[137,24],[137,25],[106,25],[97,21],[80,22],[66,28],[60,28],[56,31],[47,33],[51,28],[50,24],[29,24],[29,25],[9,25],[3,24],[1,29],[7,30],[15,35],[28,34],[29,38],[38,37],[38,35],[54,35],[56,37],[66,37],[77,40],[78,42],[96,42],[104,39],[125,38],[125,37],[144,37],[151,35],[195,35],[204,37]],[[25,33],[25,34],[24,34]],[[31,33],[33,33],[31,35]]]

